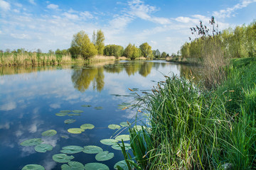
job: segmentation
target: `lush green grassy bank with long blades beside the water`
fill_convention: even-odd
[[[232,60],[214,89],[167,77],[141,97],[148,128],[130,128],[132,169],[255,169],[256,60]]]

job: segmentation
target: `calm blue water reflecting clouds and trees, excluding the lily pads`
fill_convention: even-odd
[[[0,68],[1,169],[22,169],[26,164],[60,169],[62,164],[54,162],[52,157],[68,145],[96,145],[113,152],[114,158],[101,163],[114,169],[114,164],[123,160],[122,152],[103,145],[100,140],[117,135],[116,130],[107,128],[108,125],[134,120],[136,110],[118,108],[123,102],[134,101],[134,94],[128,88],[142,94],[157,81],[163,81],[164,75],[188,72],[188,67],[159,61],[101,63],[87,67]],[[55,115],[63,110],[84,112],[73,116]],[[76,121],[65,124],[67,119]],[[95,125],[95,128],[81,134],[68,132],[69,128],[80,128],[85,123]],[[56,130],[57,134],[42,137],[41,133],[46,130]],[[127,130],[121,133],[124,134],[128,134]],[[40,153],[33,146],[20,145],[31,138],[41,138],[53,149]],[[75,157],[72,161],[82,164],[97,162],[95,154],[69,155]]]

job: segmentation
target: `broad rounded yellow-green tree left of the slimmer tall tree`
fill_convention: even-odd
[[[88,60],[93,55],[97,55],[95,45],[90,42],[90,38],[83,30],[73,35],[70,52],[72,55],[82,56],[84,60]]]

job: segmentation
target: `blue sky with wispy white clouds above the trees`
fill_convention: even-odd
[[[256,19],[256,0],[0,0],[0,50],[43,52],[68,49],[80,30],[92,39],[102,30],[105,45],[148,42],[169,54],[191,37],[189,28],[214,16],[219,30]]]

